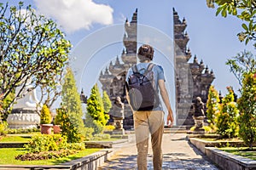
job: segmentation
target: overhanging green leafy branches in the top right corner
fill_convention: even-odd
[[[241,25],[243,31],[237,34],[241,42],[253,40],[256,47],[256,1],[255,0],[207,0],[207,6],[214,8],[218,5],[216,15],[226,17],[228,14],[235,15],[244,21]]]

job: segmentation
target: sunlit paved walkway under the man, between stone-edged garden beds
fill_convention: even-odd
[[[218,170],[206,156],[188,143],[185,133],[165,133],[163,139],[163,169],[178,170]],[[150,142],[149,142],[150,143]],[[152,150],[148,150],[148,170],[153,169]],[[137,169],[137,148],[134,134],[129,136],[128,144],[120,144],[114,148],[114,155],[99,167],[107,169]]]

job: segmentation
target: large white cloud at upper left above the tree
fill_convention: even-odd
[[[113,8],[92,0],[34,0],[38,11],[57,20],[67,32],[113,23]]]

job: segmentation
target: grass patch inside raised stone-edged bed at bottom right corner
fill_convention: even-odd
[[[241,147],[241,148],[225,147],[225,148],[219,148],[219,149],[232,153],[236,156],[244,156],[256,161],[256,148],[253,148],[252,151],[247,150],[246,147]]]

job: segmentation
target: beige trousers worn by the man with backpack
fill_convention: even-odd
[[[137,142],[137,168],[147,169],[148,137],[151,134],[154,170],[162,167],[162,136],[164,133],[163,111],[135,111],[133,113]]]

